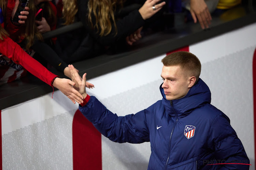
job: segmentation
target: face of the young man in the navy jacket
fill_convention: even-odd
[[[161,77],[162,88],[167,100],[180,99],[189,91],[190,78],[180,66],[163,66]]]

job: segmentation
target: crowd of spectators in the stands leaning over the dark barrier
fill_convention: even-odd
[[[82,102],[71,80],[60,79],[46,68],[54,67],[70,78],[70,63],[122,52],[136,45],[148,30],[161,31],[185,22],[208,29],[213,15],[240,3],[241,0],[1,0],[0,85],[29,71],[59,88],[73,102]],[[159,24],[163,17],[170,21]],[[82,28],[43,39],[44,33],[79,21]],[[94,87],[90,83],[86,86]]]

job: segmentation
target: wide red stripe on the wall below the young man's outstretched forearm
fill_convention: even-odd
[[[74,115],[72,133],[73,169],[101,170],[101,134],[79,110]]]

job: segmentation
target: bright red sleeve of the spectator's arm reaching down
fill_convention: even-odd
[[[0,53],[7,56],[16,64],[22,65],[28,72],[51,86],[52,80],[57,77],[38,61],[29,56],[17,43],[7,37],[0,40]]]

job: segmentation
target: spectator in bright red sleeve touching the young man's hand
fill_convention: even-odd
[[[40,80],[44,81],[48,85],[58,88],[63,94],[70,98],[72,102],[75,103],[76,101],[81,103],[81,99],[83,99],[81,94],[72,88],[74,82],[68,79],[60,79],[55,74],[49,72],[8,37],[8,33],[2,28],[2,26],[4,26],[4,18],[6,17],[5,6],[6,1],[0,1],[0,83],[10,82],[19,78],[22,73],[24,74],[22,67],[24,66],[25,69]],[[26,8],[26,10],[29,9]],[[28,15],[28,12],[23,12],[23,14]],[[20,16],[19,18],[27,19],[27,16]],[[21,20],[19,23],[22,24],[25,23],[25,21]],[[10,72],[12,76],[10,76]],[[88,87],[92,86],[93,85],[88,84]]]

